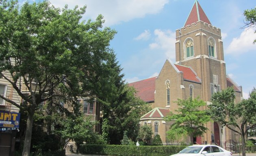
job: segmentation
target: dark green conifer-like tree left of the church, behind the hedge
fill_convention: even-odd
[[[127,131],[128,138],[135,141],[139,132],[140,117],[149,111],[148,104],[135,97],[133,87],[128,87],[123,82],[120,84],[119,80],[116,82],[113,83],[114,89],[106,93],[105,97],[102,96],[103,119],[108,123],[104,127],[104,136],[110,144],[120,144],[124,131]]]

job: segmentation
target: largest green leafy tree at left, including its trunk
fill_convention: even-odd
[[[59,9],[49,1],[25,2],[20,7],[17,0],[1,0],[0,78],[11,83],[26,104],[0,98],[28,115],[23,156],[30,154],[33,116],[41,102],[55,101],[63,108],[56,102],[62,99],[78,111],[76,97],[88,97],[102,86],[95,78],[109,69],[113,54],[108,46],[116,32],[102,28],[101,15],[95,22],[81,21],[85,9]],[[20,80],[28,95],[22,92]]]

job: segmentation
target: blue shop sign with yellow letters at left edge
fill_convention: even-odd
[[[19,128],[20,113],[0,111],[0,127]]]

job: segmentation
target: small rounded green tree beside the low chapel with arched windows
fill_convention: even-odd
[[[139,135],[137,139],[139,139],[139,141],[143,141],[146,145],[148,145],[151,143],[152,135],[152,127],[148,125],[143,125],[139,129]]]

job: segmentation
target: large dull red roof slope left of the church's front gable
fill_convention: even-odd
[[[155,83],[156,77],[145,80],[129,83],[129,86],[135,87],[137,90],[137,97],[145,102],[152,102],[155,100]]]

